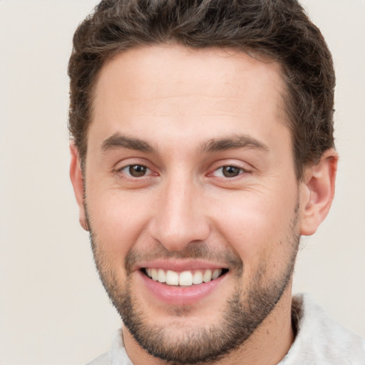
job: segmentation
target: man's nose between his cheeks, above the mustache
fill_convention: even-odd
[[[210,235],[200,187],[190,179],[171,179],[160,187],[150,235],[169,251],[182,251]]]

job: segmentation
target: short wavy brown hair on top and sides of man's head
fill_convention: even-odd
[[[78,26],[68,64],[68,128],[81,161],[103,64],[128,48],[171,41],[238,48],[282,66],[298,179],[334,147],[331,53],[296,0],[104,0]]]

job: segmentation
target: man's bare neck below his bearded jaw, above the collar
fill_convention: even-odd
[[[278,364],[292,346],[292,284],[290,283],[267,316],[244,344],[230,352],[215,365],[274,365]],[[125,350],[134,365],[165,365],[166,361],[148,354],[123,327]]]

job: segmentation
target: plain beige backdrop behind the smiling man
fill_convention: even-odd
[[[0,0],[0,364],[84,364],[120,326],[68,180],[71,37],[96,0]],[[365,1],[303,0],[334,54],[334,206],[294,291],[365,336]]]

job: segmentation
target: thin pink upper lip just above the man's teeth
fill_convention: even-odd
[[[150,268],[150,269],[165,269],[175,272],[183,272],[198,269],[227,269],[227,265],[207,262],[204,260],[192,259],[156,259],[148,262],[139,262],[135,270]]]

